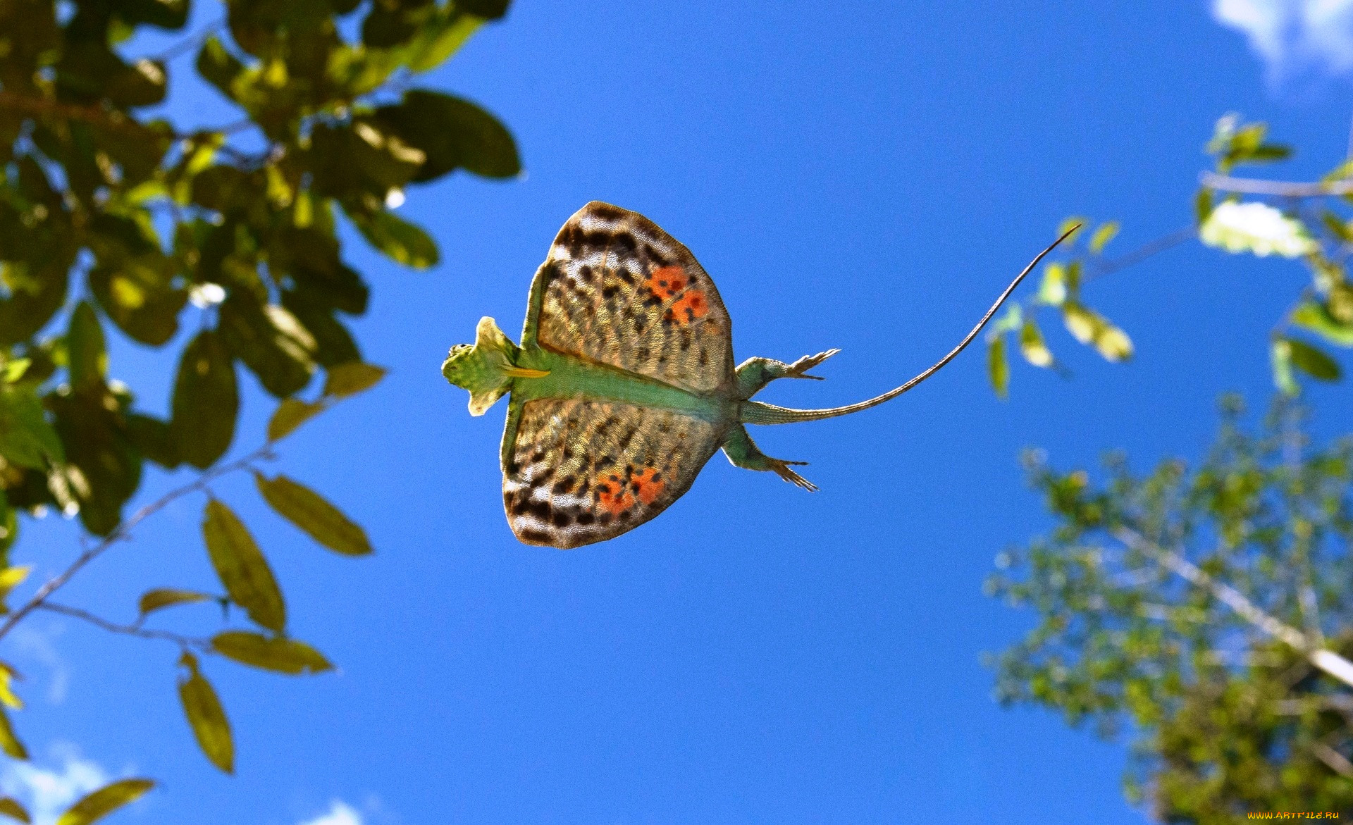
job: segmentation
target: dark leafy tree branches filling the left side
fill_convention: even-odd
[[[0,0],[0,595],[28,571],[11,561],[24,519],[54,509],[93,537],[68,569],[4,609],[0,637],[49,610],[177,644],[184,710],[223,771],[234,748],[200,656],[283,674],[330,665],[285,634],[281,590],[210,483],[249,471],[262,498],[319,544],[371,552],[360,526],[304,486],[264,476],[260,463],[383,375],[361,361],[345,325],[365,311],[368,285],[342,261],[336,211],[386,256],[428,268],[436,243],[391,211],[405,188],[455,169],[518,174],[513,138],[492,115],[410,88],[506,7],[230,0],[219,20],[164,53],[129,54],[145,27],[183,30],[188,0]],[[161,104],[175,58],[193,54],[238,120],[183,130],[146,114],[172,111]],[[192,331],[180,334],[181,323]],[[168,421],[138,411],[133,388],[114,377],[110,334],[179,349]],[[261,446],[226,463],[241,368],[279,404]],[[322,388],[302,399],[319,371]],[[129,515],[146,460],[200,475]],[[130,623],[53,600],[138,522],[193,492],[206,494],[203,536],[222,594],[150,590]],[[238,606],[254,628],[189,638],[146,626],[152,613],[193,602]],[[0,702],[18,709],[12,676],[0,663]],[[3,710],[0,747],[26,757]],[[62,822],[93,821],[146,787],[115,783]],[[0,799],[0,814],[22,814],[15,806]]]

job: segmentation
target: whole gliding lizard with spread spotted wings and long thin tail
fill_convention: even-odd
[[[962,352],[1066,235],[934,367],[856,404],[790,410],[751,399],[775,379],[817,379],[808,371],[839,350],[735,368],[728,310],[690,250],[639,212],[594,200],[564,223],[536,270],[521,345],[483,318],[475,344],[451,348],[441,373],[469,391],[471,415],[510,394],[507,523],[526,544],[576,548],[666,510],[720,448],[737,467],[817,490],[792,469],[804,461],[766,456],[746,425],[850,415],[907,392]]]

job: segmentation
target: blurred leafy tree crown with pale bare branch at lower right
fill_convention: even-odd
[[[1039,617],[993,657],[997,695],[1126,730],[1128,794],[1165,821],[1353,811],[1353,702],[1316,664],[1353,656],[1353,440],[1310,449],[1288,406],[1260,435],[1238,415],[1196,468],[1114,456],[1096,483],[1030,456],[1057,527],[988,580]]]

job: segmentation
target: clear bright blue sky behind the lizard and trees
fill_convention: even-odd
[[[1329,34],[1349,15],[1315,5],[1349,4],[1223,0],[1227,24],[1200,0],[515,4],[425,84],[497,112],[528,174],[409,192],[402,214],[442,249],[432,272],[349,233],[375,284],[361,341],[391,376],[279,464],[365,525],[376,556],[313,546],[246,479],[216,487],[269,553],[292,632],[341,672],[206,663],[235,729],[229,778],[191,741],[173,648],[38,617],[8,656],[45,774],[4,782],[145,774],[161,788],[118,821],[147,824],[1142,821],[1120,794],[1122,744],[992,702],[980,655],[1031,617],[981,583],[1050,526],[1022,448],[1062,467],[1126,448],[1146,467],[1197,456],[1219,394],[1262,407],[1268,330],[1299,265],[1172,250],[1091,287],[1132,335],[1131,362],[1049,330],[1074,377],[1016,365],[1003,403],[966,353],[882,408],[752,433],[810,461],[820,492],[716,456],[662,518],[574,552],[515,542],[502,406],[469,418],[437,368],[482,315],[515,335],[559,225],[602,199],[695,253],[739,360],[842,348],[827,381],[766,400],[874,395],[947,352],[1063,216],[1120,218],[1119,252],[1187,225],[1222,114],[1299,147],[1275,174],[1334,165],[1353,49]],[[206,91],[176,93],[188,116],[230,119]],[[112,358],[164,411],[172,354],[118,341]],[[1349,396],[1311,395],[1319,431],[1348,429]],[[237,452],[269,411],[250,384]],[[142,499],[187,477],[153,476]],[[65,599],[130,618],[146,587],[212,588],[200,513],[156,517]],[[19,557],[41,580],[77,552],[73,525],[47,519]],[[165,621],[206,633],[208,613]]]

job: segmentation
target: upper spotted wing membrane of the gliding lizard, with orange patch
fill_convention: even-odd
[[[564,223],[536,272],[532,344],[691,392],[733,381],[732,323],[709,275],[656,223],[601,202]]]

